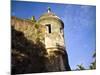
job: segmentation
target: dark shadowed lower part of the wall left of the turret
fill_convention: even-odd
[[[11,73],[41,73],[46,72],[44,44],[36,40],[36,43],[28,40],[23,32],[11,27]]]

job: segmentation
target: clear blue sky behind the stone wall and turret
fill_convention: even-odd
[[[83,64],[88,68],[96,50],[96,7],[88,5],[55,4],[38,2],[12,1],[11,15],[27,19],[36,19],[47,12],[52,12],[64,22],[65,45],[71,69]]]

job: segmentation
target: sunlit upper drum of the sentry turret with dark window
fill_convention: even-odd
[[[46,48],[57,48],[57,45],[64,46],[63,28],[61,21],[55,16],[42,18],[38,21],[46,26],[45,46]]]

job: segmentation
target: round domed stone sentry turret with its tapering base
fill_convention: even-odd
[[[46,28],[44,43],[49,58],[49,61],[46,62],[47,70],[70,70],[68,56],[64,45],[63,21],[48,8],[48,12],[40,16],[38,23],[44,25]]]

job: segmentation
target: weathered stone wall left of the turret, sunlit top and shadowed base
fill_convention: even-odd
[[[12,74],[47,72],[44,26],[11,17]]]

